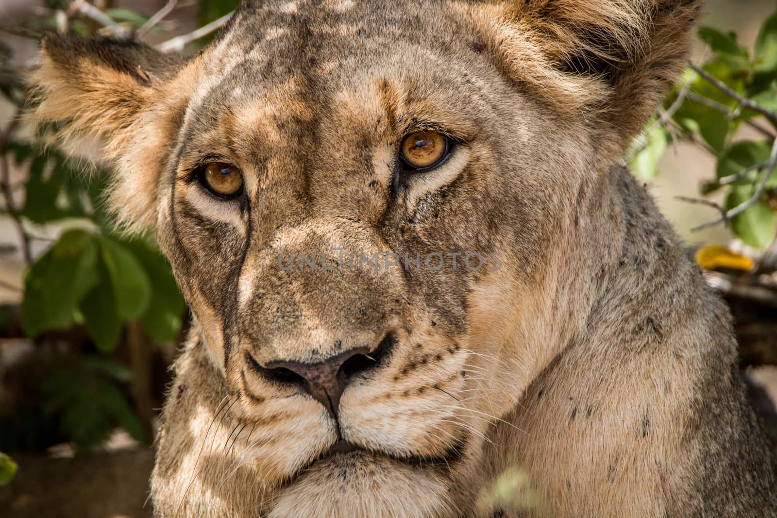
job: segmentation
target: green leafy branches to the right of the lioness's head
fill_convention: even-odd
[[[702,196],[678,200],[713,208],[719,216],[696,225],[717,224],[756,249],[767,249],[777,235],[777,13],[765,20],[754,50],[733,33],[702,27],[708,44],[703,64],[689,62],[678,87],[632,151],[632,170],[650,178],[667,144],[685,140],[717,160],[715,176],[702,184]],[[747,126],[761,140],[739,140]],[[706,196],[725,191],[724,203]]]

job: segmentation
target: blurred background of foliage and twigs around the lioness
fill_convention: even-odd
[[[152,442],[189,319],[152,241],[113,230],[100,165],[89,174],[83,160],[44,150],[24,122],[38,41],[46,31],[135,37],[191,54],[234,5],[0,0],[0,516],[150,516]],[[628,157],[730,303],[767,417],[777,396],[775,8],[707,2],[701,71],[683,76]],[[726,210],[738,212],[707,224]]]

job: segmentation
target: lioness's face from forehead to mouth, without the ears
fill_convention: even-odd
[[[235,450],[266,481],[453,476],[519,394],[490,374],[522,360],[490,306],[536,283],[580,157],[435,11],[386,9],[361,37],[356,5],[304,24],[270,11],[250,32],[273,37],[235,26],[231,57],[199,68],[157,228],[245,430]],[[408,15],[419,37],[387,45]]]

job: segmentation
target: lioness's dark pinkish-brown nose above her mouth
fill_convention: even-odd
[[[343,395],[346,384],[354,376],[375,365],[376,360],[367,356],[370,349],[358,347],[343,353],[329,356],[319,363],[300,363],[297,361],[275,361],[267,363],[267,369],[291,370],[305,382],[305,391],[321,402],[337,419],[337,409],[340,407],[340,396]]]

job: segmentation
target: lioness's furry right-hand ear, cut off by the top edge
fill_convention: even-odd
[[[613,159],[684,68],[702,0],[509,0],[478,9],[507,73],[557,110],[586,117]]]

